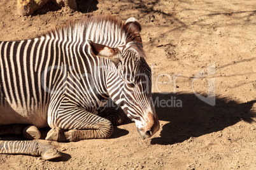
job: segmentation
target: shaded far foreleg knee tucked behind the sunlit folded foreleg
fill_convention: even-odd
[[[122,110],[120,107],[106,107],[105,110],[99,115],[105,119],[108,119],[115,126],[122,124],[125,117],[124,110]]]

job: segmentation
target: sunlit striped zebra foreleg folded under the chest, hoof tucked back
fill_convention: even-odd
[[[60,107],[60,110],[64,109]],[[46,140],[79,141],[96,138],[103,139],[110,138],[113,133],[113,124],[103,117],[87,112],[83,108],[66,109],[65,111],[65,113],[63,111],[61,114],[57,113],[59,114],[59,121],[55,120],[50,123],[53,128],[48,132]],[[69,119],[65,119],[66,117],[69,117]]]

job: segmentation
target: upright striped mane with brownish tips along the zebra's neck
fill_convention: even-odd
[[[98,44],[116,48],[125,46],[145,58],[138,22],[126,23],[112,15],[85,16],[80,21],[71,21],[46,32],[44,37],[64,39],[68,42],[85,42],[90,39]]]

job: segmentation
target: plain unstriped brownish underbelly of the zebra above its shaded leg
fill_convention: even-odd
[[[27,109],[6,100],[0,105],[0,125],[6,124],[32,124],[37,128],[45,128],[47,124],[47,113],[43,109]]]

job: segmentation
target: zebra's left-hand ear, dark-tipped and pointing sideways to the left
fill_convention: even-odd
[[[111,48],[109,46],[105,46],[103,44],[97,44],[90,40],[87,40],[90,50],[93,56],[102,56],[104,58],[108,58],[109,60],[113,61],[115,65],[120,62],[120,57],[118,57],[118,48]]]

